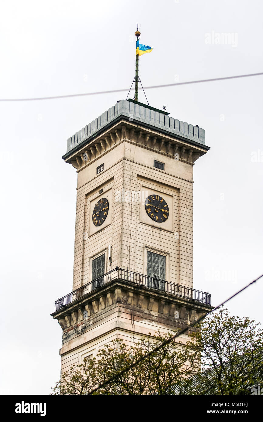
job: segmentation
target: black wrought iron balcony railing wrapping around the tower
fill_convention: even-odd
[[[84,284],[84,286],[79,287],[79,289],[56,300],[55,311],[69,305],[75,300],[81,299],[88,293],[99,289],[113,280],[130,281],[148,287],[149,289],[168,293],[172,296],[195,300],[204,305],[211,305],[211,295],[208,292],[201,292],[201,290],[192,289],[191,287],[182,286],[181,284],[171,283],[170,281],[160,280],[157,277],[149,277],[144,274],[116,267],[114,270],[103,274],[103,276],[100,276],[95,280],[89,281],[89,283]]]

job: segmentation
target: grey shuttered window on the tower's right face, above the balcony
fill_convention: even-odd
[[[160,280],[165,280],[165,256],[147,251],[147,276],[152,277],[147,281],[148,287],[163,290]]]

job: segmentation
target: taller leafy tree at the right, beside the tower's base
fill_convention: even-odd
[[[181,392],[251,395],[263,380],[263,331],[248,317],[230,316],[222,307],[204,320],[190,346],[199,349],[202,366]]]

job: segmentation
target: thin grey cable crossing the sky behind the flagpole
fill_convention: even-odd
[[[166,88],[166,87],[175,87],[177,85],[188,85],[188,84],[199,84],[201,82],[213,82],[213,81],[222,81],[225,79],[236,79],[236,78],[247,78],[248,76],[259,76],[263,75],[261,73],[249,73],[247,75],[237,75],[237,76],[225,76],[224,78],[211,78],[211,79],[200,79],[198,81],[187,81],[187,82],[176,82],[175,84],[164,84],[164,85],[152,85],[150,87],[145,87],[145,89],[153,88]],[[139,87],[138,89],[143,89]],[[110,91],[97,91],[97,92],[86,92],[84,94],[69,94],[69,95],[55,95],[53,97],[35,97],[35,98],[0,98],[0,101],[40,101],[40,100],[56,100],[58,98],[70,98],[70,97],[84,97],[86,95],[100,95],[100,94],[111,94],[113,92],[125,92],[127,88],[124,89],[111,89]]]

